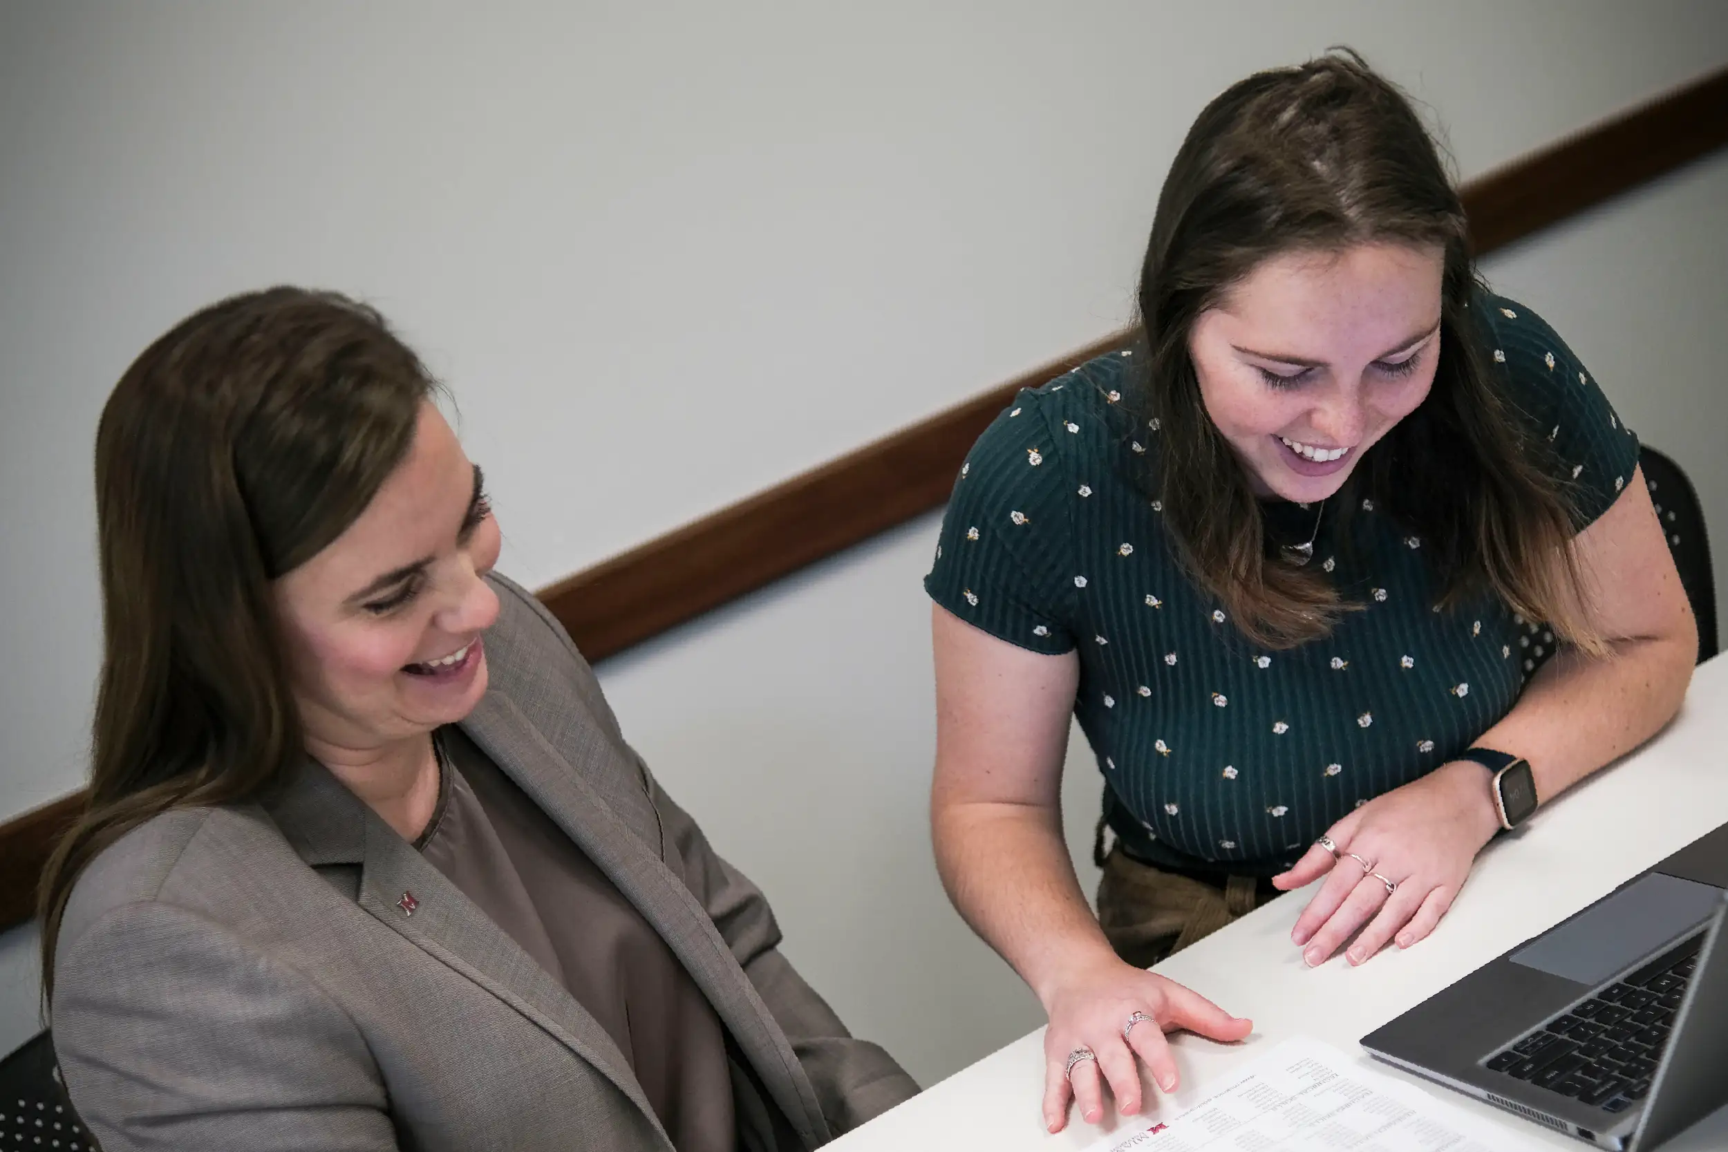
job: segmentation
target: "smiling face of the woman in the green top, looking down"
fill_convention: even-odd
[[[1325,499],[1427,397],[1443,271],[1438,245],[1287,252],[1194,321],[1206,415],[1256,496]]]

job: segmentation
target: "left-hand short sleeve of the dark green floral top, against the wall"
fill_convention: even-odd
[[[973,444],[942,516],[930,598],[990,636],[1037,653],[1075,642],[1068,465],[1049,396],[1020,392]]]

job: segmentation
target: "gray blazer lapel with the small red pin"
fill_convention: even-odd
[[[299,779],[266,808],[306,864],[359,864],[361,908],[588,1060],[665,1136],[600,1021],[328,769],[308,760]]]

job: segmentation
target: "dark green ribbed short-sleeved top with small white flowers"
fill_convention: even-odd
[[[1588,525],[1633,480],[1636,437],[1541,318],[1500,297],[1471,311]],[[1011,644],[1080,651],[1075,715],[1130,853],[1275,874],[1469,748],[1553,637],[1486,596],[1441,611],[1422,541],[1355,491],[1350,516],[1320,520],[1315,563],[1365,610],[1294,649],[1255,646],[1182,573],[1137,480],[1159,434],[1123,402],[1130,368],[1111,352],[1014,397],[961,468],[924,587]],[[1317,511],[1268,503],[1268,530],[1305,541]]]

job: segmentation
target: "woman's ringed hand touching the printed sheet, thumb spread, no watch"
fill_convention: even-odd
[[[1206,997],[1182,984],[1123,964],[1115,953],[1097,955],[1071,971],[1044,997],[1051,1026],[1044,1029],[1044,1126],[1061,1131],[1068,1104],[1078,1100],[1080,1116],[1097,1123],[1104,1116],[1104,1083],[1116,1097],[1116,1112],[1140,1111],[1140,1064],[1165,1092],[1177,1088],[1177,1062],[1166,1031],[1185,1028],[1211,1040],[1236,1041],[1253,1031],[1253,1021],[1230,1016]],[[1121,1029],[1135,1012],[1151,1021]],[[1156,1024],[1156,1026],[1154,1026]],[[1068,1074],[1068,1055],[1090,1048],[1096,1060],[1078,1060]]]

